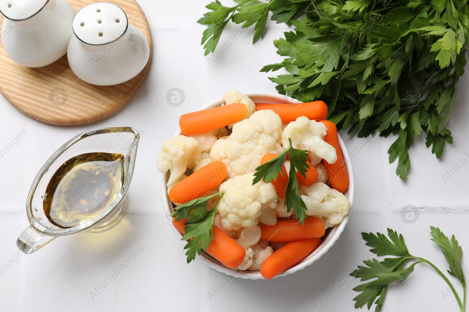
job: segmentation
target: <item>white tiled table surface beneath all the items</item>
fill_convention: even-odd
[[[430,225],[439,226],[447,235],[454,233],[469,252],[469,165],[446,183],[442,178],[462,158],[469,160],[465,154],[469,154],[466,75],[460,80],[450,123],[454,144],[446,145],[442,159],[437,160],[425,148],[424,136],[416,139],[409,151],[412,167],[405,182],[394,174],[396,163],[388,164],[386,151],[395,138],[365,140],[342,133],[348,150],[356,151],[352,161],[355,202],[345,232],[319,261],[294,275],[271,281],[234,279],[224,288],[219,284],[227,276],[200,261],[188,265],[160,200],[159,146],[177,130],[181,114],[197,110],[227,90],[275,92],[269,74],[259,69],[281,60],[272,41],[287,26],[269,22],[264,40],[254,46],[252,31],[234,42],[230,35],[238,29],[227,27],[220,44],[231,41],[233,46],[209,64],[200,46],[204,27],[196,21],[210,1],[152,1],[140,2],[153,36],[151,72],[118,113],[88,126],[58,127],[34,122],[0,98],[0,149],[17,133],[27,131],[0,159],[0,266],[8,267],[0,276],[0,311],[353,311],[352,298],[358,293],[352,288],[359,282],[344,279],[368,255],[361,232],[384,232],[391,227],[404,235],[412,254],[433,261],[442,270],[446,261],[430,241]],[[179,107],[166,102],[166,93],[174,87],[185,94]],[[142,138],[129,209],[121,224],[102,233],[62,237],[35,254],[17,258],[16,237],[28,225],[25,199],[45,160],[80,132],[122,125],[141,131]],[[421,207],[414,224],[401,219],[402,207],[409,204]],[[139,248],[144,251],[135,260],[130,258],[134,263],[117,276],[113,270]],[[467,258],[464,266],[469,269]],[[448,292],[446,283],[422,264],[405,283],[390,287],[383,311],[457,311],[454,298],[445,300],[443,292]]]

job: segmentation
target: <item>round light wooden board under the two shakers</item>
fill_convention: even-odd
[[[68,0],[76,11],[97,1]],[[87,124],[120,109],[142,85],[151,63],[151,33],[144,12],[135,0],[106,0],[121,7],[129,24],[140,29],[150,45],[145,68],[133,79],[115,86],[95,86],[78,79],[68,66],[67,55],[51,65],[29,68],[0,48],[0,92],[15,108],[43,123]],[[3,15],[0,15],[0,23]],[[70,25],[70,27],[72,27]]]

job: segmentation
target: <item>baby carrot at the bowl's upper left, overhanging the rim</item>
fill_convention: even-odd
[[[242,103],[198,110],[182,115],[179,118],[179,127],[183,135],[217,130],[241,120],[247,111],[248,108]]]

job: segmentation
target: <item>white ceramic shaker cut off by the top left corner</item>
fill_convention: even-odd
[[[1,40],[18,64],[49,65],[67,52],[75,9],[67,0],[0,0]]]

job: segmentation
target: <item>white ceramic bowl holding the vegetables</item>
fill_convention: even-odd
[[[255,103],[271,103],[271,104],[299,103],[299,101],[293,98],[287,97],[282,94],[275,94],[275,93],[270,93],[270,92],[252,92],[252,93],[243,93],[243,94],[248,95],[250,99]],[[202,107],[201,109],[210,109],[213,107],[217,107],[217,106],[220,106],[222,102],[223,102],[222,99],[218,99],[208,104],[207,106]],[[180,134],[181,134],[181,131],[177,131],[175,135],[177,136]],[[348,190],[347,192],[345,192],[344,195],[348,198],[348,200],[350,201],[350,205],[351,205],[353,201],[354,190],[355,190],[352,164],[351,164],[348,152],[347,152],[347,148],[345,147],[344,142],[342,141],[340,137],[339,137],[339,143],[340,143],[340,150],[342,151],[342,156],[344,157],[344,162],[347,168],[348,179],[349,179]],[[166,188],[166,182],[168,181],[168,178],[169,178],[169,172],[166,174],[163,174],[161,177],[161,193],[162,193],[162,198],[163,198],[163,205],[165,207],[167,216],[169,216],[171,213],[174,212],[173,210],[174,205],[168,197],[167,188]],[[342,223],[335,225],[332,228],[329,228],[326,230],[325,235],[322,238],[321,245],[319,245],[319,247],[314,252],[312,252],[309,256],[304,258],[294,267],[283,271],[282,273],[280,273],[278,276],[275,276],[275,277],[292,274],[298,270],[306,268],[307,266],[312,264],[314,261],[318,260],[323,254],[327,252],[327,250],[329,250],[329,248],[331,248],[334,245],[335,241],[339,239],[340,233],[343,232],[345,225],[347,225],[349,216],[350,216],[350,213],[348,214],[348,216],[344,218]],[[171,220],[171,218],[168,218],[168,220]],[[180,232],[178,232],[175,229],[174,229],[174,232],[178,235],[180,239],[182,238],[182,234]],[[182,241],[181,248],[185,244],[186,244],[186,241]],[[204,262],[209,267],[214,268],[217,271],[221,273],[225,273],[226,275],[229,275],[229,276],[241,277],[245,279],[264,279],[264,277],[260,274],[259,271],[239,271],[239,270],[233,270],[233,269],[227,268],[224,265],[222,265],[219,261],[212,258],[209,254],[206,254],[204,252],[200,256],[197,255],[197,257],[200,261]]]

